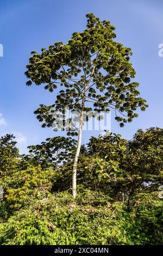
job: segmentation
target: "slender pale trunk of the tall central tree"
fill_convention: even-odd
[[[84,105],[85,105],[85,98],[86,98],[86,89],[84,89],[84,95],[82,100],[82,107],[80,112],[80,120],[79,120],[79,132],[78,132],[78,144],[77,144],[77,151],[74,157],[73,162],[73,170],[72,170],[72,196],[75,199],[77,196],[77,164],[78,164],[78,157],[80,153],[80,148],[82,144],[82,128],[83,128],[83,112],[84,112]]]

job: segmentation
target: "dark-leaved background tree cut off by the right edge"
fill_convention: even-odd
[[[163,182],[163,129],[139,129],[128,142],[125,168],[132,177],[130,193],[158,190]]]

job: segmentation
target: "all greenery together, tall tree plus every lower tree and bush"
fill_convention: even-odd
[[[163,129],[140,129],[131,141],[106,132],[81,144],[84,111],[97,117],[113,108],[123,126],[147,107],[133,82],[131,50],[114,41],[114,29],[88,14],[87,28],[66,45],[32,52],[27,85],[59,87],[37,119],[51,127],[55,111],[78,111],[78,140],[71,130],[20,155],[13,135],[0,138],[0,245],[163,244]],[[64,130],[73,121],[64,119]]]

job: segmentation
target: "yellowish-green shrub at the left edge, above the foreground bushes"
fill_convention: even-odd
[[[15,170],[0,178],[4,188],[4,198],[0,203],[0,217],[8,218],[15,210],[28,206],[33,200],[49,194],[54,172],[42,170],[40,166],[26,170]]]

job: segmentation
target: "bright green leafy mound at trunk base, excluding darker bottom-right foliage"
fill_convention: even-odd
[[[88,204],[85,193],[79,194],[78,203],[68,192],[54,194],[38,200],[28,210],[18,212],[1,227],[3,245],[86,245],[126,243],[122,227],[120,207],[104,205],[104,195],[98,204],[95,194],[86,191],[91,199]],[[82,198],[82,200],[80,199]],[[95,198],[95,202],[93,202]],[[96,207],[95,207],[96,205]],[[118,217],[116,220],[116,216]]]

